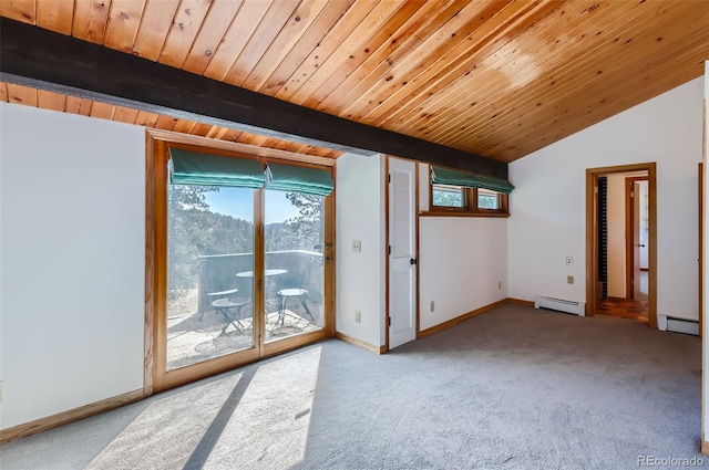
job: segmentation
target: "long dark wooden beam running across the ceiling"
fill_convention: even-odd
[[[269,137],[507,178],[507,165],[0,18],[0,80]]]

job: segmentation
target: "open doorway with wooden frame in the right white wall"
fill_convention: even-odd
[[[656,165],[586,170],[586,305],[657,327]]]

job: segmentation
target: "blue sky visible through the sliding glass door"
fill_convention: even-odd
[[[251,189],[219,188],[207,192],[207,203],[214,212],[227,213],[237,219],[254,220],[254,194]],[[266,223],[282,222],[298,215],[284,191],[266,191]]]

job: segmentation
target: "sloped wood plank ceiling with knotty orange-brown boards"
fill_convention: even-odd
[[[707,1],[2,0],[0,15],[501,161],[698,77],[709,59]],[[340,155],[9,83],[0,100]]]

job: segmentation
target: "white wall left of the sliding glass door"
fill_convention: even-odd
[[[145,137],[0,103],[3,429],[143,387]]]

